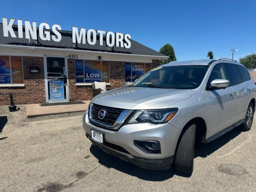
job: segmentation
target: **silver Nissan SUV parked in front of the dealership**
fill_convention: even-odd
[[[252,126],[256,85],[234,60],[170,62],[94,97],[83,116],[95,146],[142,168],[191,174],[194,145]]]

